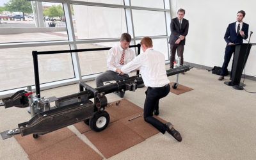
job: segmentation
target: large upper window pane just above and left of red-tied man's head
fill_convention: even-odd
[[[119,38],[127,32],[124,9],[72,5],[77,39]]]

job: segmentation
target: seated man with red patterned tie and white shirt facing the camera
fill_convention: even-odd
[[[130,42],[131,35],[123,33],[120,38],[120,45],[116,45],[109,50],[108,70],[96,77],[97,87],[103,86],[103,83],[107,81],[119,81],[129,77],[128,74],[120,74],[120,68],[134,58],[134,51],[129,48]],[[119,96],[124,97],[124,93],[120,92]]]

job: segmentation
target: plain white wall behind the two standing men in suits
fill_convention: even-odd
[[[189,33],[186,37],[184,61],[208,67],[222,66],[226,42],[225,31],[228,24],[236,22],[236,13],[244,10],[244,22],[249,24],[249,34],[253,31],[250,42],[256,43],[256,1],[247,0],[171,0],[172,18],[177,17],[177,10],[186,10],[185,19],[189,20]],[[170,28],[169,28],[170,29]],[[249,38],[247,39],[249,40]],[[244,41],[244,43],[247,43]],[[256,45],[251,49],[245,74],[256,75]],[[228,70],[231,69],[231,63]]]

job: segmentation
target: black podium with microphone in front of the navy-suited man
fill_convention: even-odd
[[[256,44],[233,44],[236,46],[234,53],[234,62],[232,67],[232,81],[225,81],[228,86],[233,86],[236,90],[243,90],[243,83],[240,83],[243,74],[244,65],[250,54],[252,45]]]

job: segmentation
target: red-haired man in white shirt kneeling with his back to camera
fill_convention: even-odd
[[[177,141],[182,141],[180,133],[173,128],[170,122],[164,124],[153,117],[153,110],[159,105],[159,100],[166,97],[170,92],[170,81],[166,75],[164,54],[152,49],[152,39],[148,36],[142,38],[140,44],[143,53],[127,65],[124,65],[120,73],[129,73],[136,68],[140,68],[143,82],[148,87],[145,92],[144,120],[153,125],[161,133],[164,134],[167,131]]]

